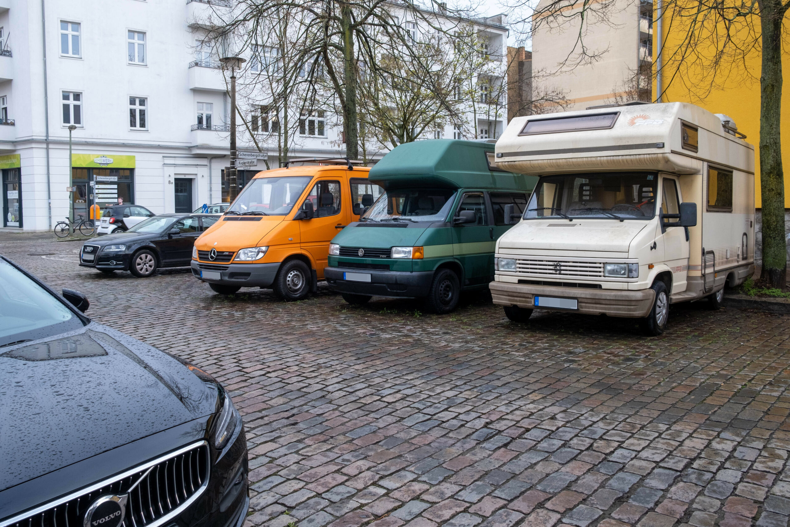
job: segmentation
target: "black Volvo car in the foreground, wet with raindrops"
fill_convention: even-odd
[[[0,526],[241,527],[231,397],[88,305],[0,256]]]

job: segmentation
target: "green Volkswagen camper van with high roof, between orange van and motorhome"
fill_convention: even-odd
[[[461,291],[487,288],[496,239],[524,213],[536,177],[500,171],[494,145],[435,139],[399,145],[371,169],[384,189],[329,245],[329,286],[348,303],[425,298],[453,311]]]

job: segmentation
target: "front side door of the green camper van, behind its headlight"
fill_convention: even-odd
[[[464,266],[464,284],[487,284],[494,274],[494,237],[482,192],[465,192],[453,216],[462,210],[475,213],[473,224],[453,227],[453,254]]]

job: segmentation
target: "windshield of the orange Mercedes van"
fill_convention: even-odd
[[[247,183],[225,213],[285,216],[294,208],[311,179],[313,178],[310,176],[292,175],[255,178]]]

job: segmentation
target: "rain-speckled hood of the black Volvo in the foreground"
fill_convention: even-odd
[[[0,491],[217,411],[205,372],[91,322],[0,348]]]

